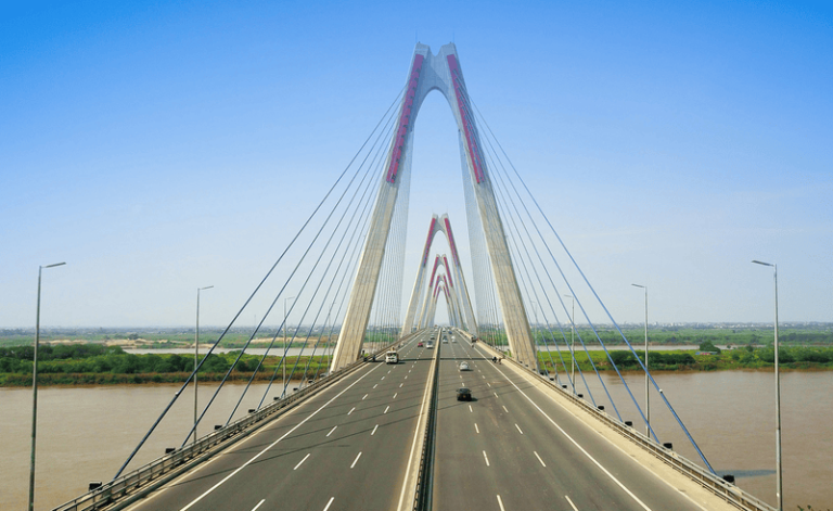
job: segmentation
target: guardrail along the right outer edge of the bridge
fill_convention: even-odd
[[[494,346],[487,343],[483,343],[483,344],[487,346],[488,349],[491,349],[502,355],[502,353],[499,352]],[[769,506],[768,503],[764,502],[759,498],[751,494],[747,494],[746,491],[739,488],[734,484],[722,480],[720,476],[715,475],[712,472],[708,472],[707,470],[703,469],[702,467],[697,465],[691,460],[678,455],[670,448],[667,448],[665,446],[662,446],[651,440],[649,437],[646,437],[639,431],[635,430],[632,426],[629,426],[627,424],[624,424],[613,419],[603,410],[600,410],[593,407],[591,404],[587,403],[585,399],[578,396],[574,396],[572,393],[565,391],[561,385],[558,385],[552,381],[550,381],[547,376],[537,374],[534,371],[529,370],[529,368],[521,366],[513,358],[508,357],[505,358],[505,360],[513,363],[520,369],[523,369],[525,371],[528,371],[535,374],[542,383],[551,386],[555,391],[559,391],[562,397],[565,397],[566,399],[572,400],[576,406],[587,411],[590,414],[590,417],[593,417],[594,419],[606,424],[608,427],[613,429],[614,431],[625,436],[632,443],[637,444],[638,446],[642,447],[646,451],[651,452],[655,458],[659,459],[668,467],[687,475],[689,478],[699,483],[704,488],[721,497],[723,500],[726,500],[726,502],[736,507],[738,509],[742,509],[744,511],[777,511],[776,508]]]

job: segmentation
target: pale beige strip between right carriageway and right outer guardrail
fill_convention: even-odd
[[[476,348],[488,353],[489,357],[501,357],[503,354],[485,343],[476,343]],[[509,360],[509,359],[507,359]],[[607,440],[613,447],[619,449],[631,459],[636,460],[641,467],[653,473],[659,481],[667,484],[675,490],[688,497],[692,502],[708,511],[738,511],[738,508],[727,502],[722,497],[715,495],[709,489],[703,487],[700,483],[668,467],[662,460],[646,451],[639,445],[624,437],[615,430],[606,426],[603,422],[591,417],[591,414],[581,407],[574,404],[564,393],[553,388],[548,382],[543,381],[535,373],[518,367],[516,363],[503,363],[501,369],[507,369],[526,380],[546,396],[552,399],[573,417],[577,418],[588,429],[594,431],[599,436]]]

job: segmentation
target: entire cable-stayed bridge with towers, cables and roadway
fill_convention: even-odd
[[[458,127],[467,247],[435,215],[412,261],[414,128],[435,90]],[[179,447],[136,467],[213,345],[113,480],[60,509],[771,509],[713,470],[482,117],[453,44],[416,44],[405,87],[322,192],[219,338],[261,318],[226,374],[268,333],[248,384],[223,380]],[[438,233],[448,253],[434,253]],[[644,388],[626,382],[603,324]],[[269,385],[236,419],[270,356]],[[220,392],[240,399],[223,424],[204,424]],[[661,414],[674,431],[656,427]]]

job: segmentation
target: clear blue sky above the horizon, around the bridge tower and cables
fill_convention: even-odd
[[[225,324],[402,87],[470,93],[619,321],[833,321],[833,8],[812,2],[4,2],[0,328]],[[456,127],[414,142],[405,288],[464,239]],[[464,248],[461,247],[461,248]],[[443,250],[440,247],[440,250]],[[465,258],[465,256],[464,256]]]

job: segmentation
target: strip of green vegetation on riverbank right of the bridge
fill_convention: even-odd
[[[562,356],[569,367],[569,353],[562,348]],[[640,370],[641,366],[629,350],[611,350],[611,359],[620,370],[632,371]],[[774,350],[771,346],[723,349],[715,355],[696,355],[697,350],[674,349],[651,352],[649,356],[649,369],[652,371],[714,371],[728,369],[769,369],[774,367]],[[644,362],[645,352],[637,350],[639,359]],[[603,350],[591,350],[590,357],[600,371],[612,371],[613,366]],[[779,362],[781,368],[785,369],[833,369],[833,347],[808,347],[791,346],[779,349]],[[547,353],[539,353],[538,359],[548,370],[552,371],[552,362]],[[561,359],[558,353],[552,353],[552,359],[561,367]],[[576,360],[582,371],[592,371],[588,361],[587,354],[584,350],[576,349]]]

